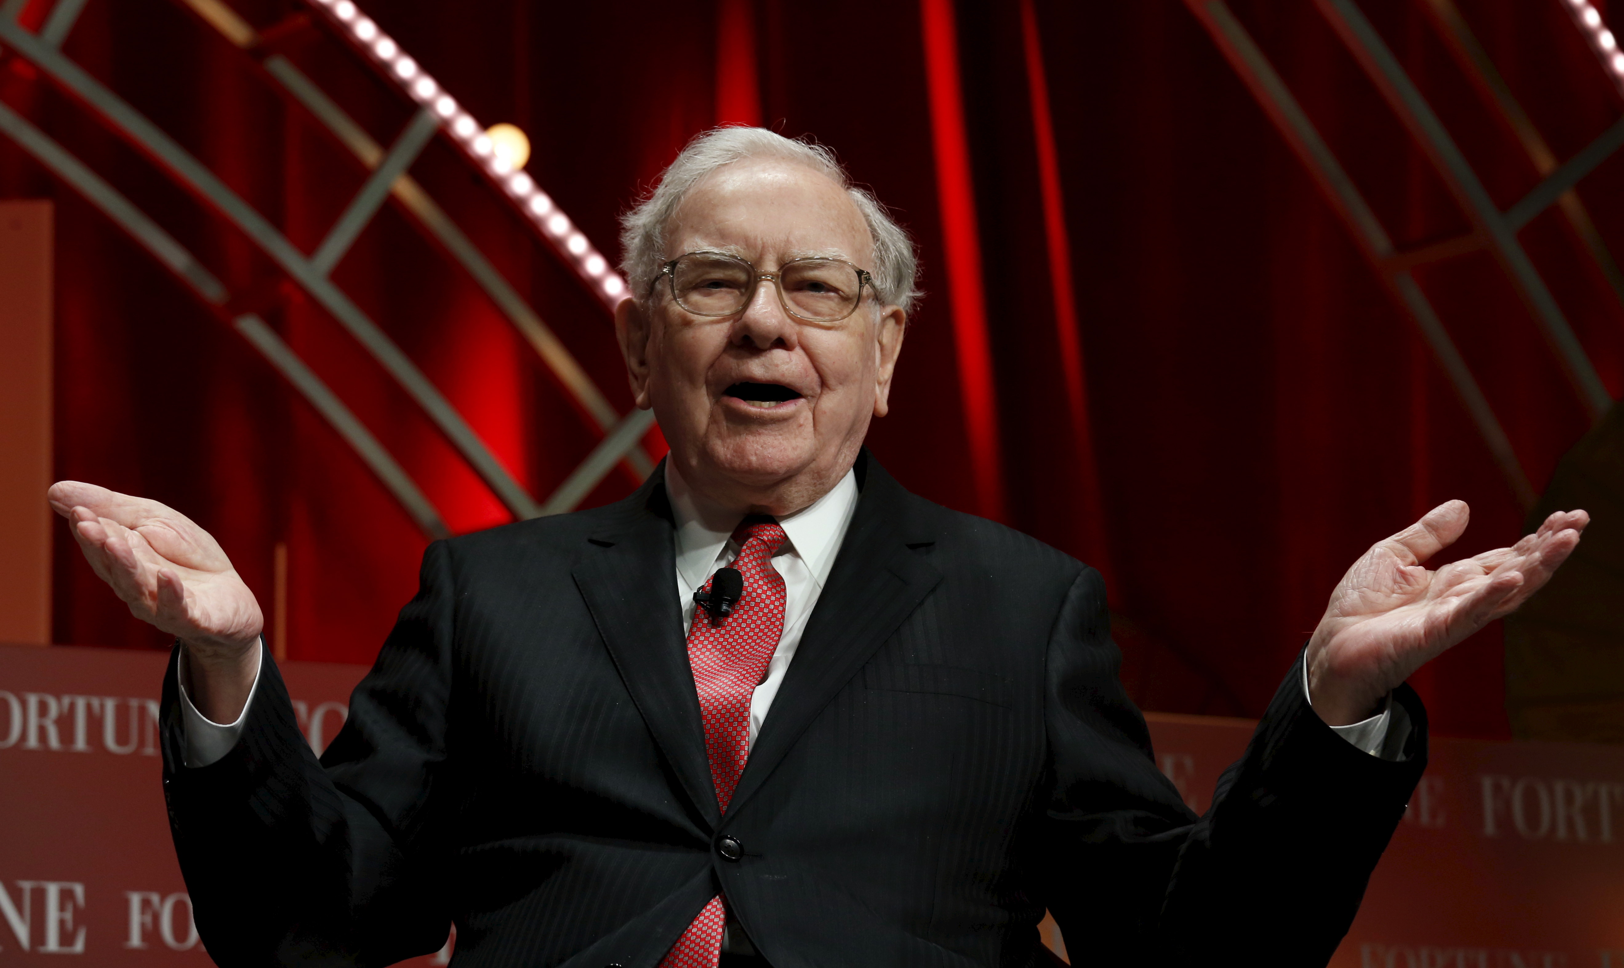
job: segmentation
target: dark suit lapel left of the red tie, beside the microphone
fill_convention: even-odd
[[[721,820],[693,671],[682,635],[676,552],[664,473],[656,469],[625,515],[588,538],[575,565],[586,599],[632,700],[682,788],[715,827]]]

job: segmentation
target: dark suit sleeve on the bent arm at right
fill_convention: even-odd
[[[1372,757],[1309,708],[1301,663],[1195,817],[1117,677],[1104,583],[1078,575],[1049,642],[1038,861],[1073,965],[1330,960],[1426,768],[1426,713],[1395,690],[1403,758]]]

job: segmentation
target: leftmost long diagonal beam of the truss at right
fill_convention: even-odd
[[[1359,252],[1376,270],[1376,276],[1389,296],[1410,315],[1421,338],[1432,349],[1444,375],[1455,388],[1455,396],[1466,416],[1478,427],[1478,435],[1489,448],[1512,494],[1525,508],[1533,507],[1533,486],[1522,469],[1522,461],[1517,460],[1517,452],[1505,435],[1505,429],[1494,416],[1494,408],[1489,406],[1488,396],[1478,387],[1471,369],[1437,318],[1432,304],[1416,286],[1415,278],[1405,268],[1395,268],[1402,263],[1403,255],[1393,253],[1387,229],[1382,227],[1353,179],[1332,154],[1314,122],[1309,120],[1280,73],[1275,71],[1275,67],[1223,0],[1186,0],[1186,5],[1212,34],[1229,67],[1241,75],[1241,81],[1250,89],[1263,114],[1268,115],[1286,145],[1309,171],[1325,200],[1343,218],[1359,245]]]

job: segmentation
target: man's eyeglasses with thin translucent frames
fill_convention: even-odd
[[[793,258],[776,273],[758,273],[749,261],[726,252],[689,252],[659,268],[671,279],[671,297],[697,317],[731,317],[755,299],[755,286],[771,279],[778,302],[789,315],[809,323],[838,323],[857,312],[862,287],[874,276],[841,258]]]

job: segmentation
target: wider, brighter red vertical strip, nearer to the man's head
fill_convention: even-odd
[[[970,179],[970,141],[958,83],[958,36],[952,0],[919,0],[924,73],[931,97],[935,187],[947,255],[947,297],[958,349],[958,388],[970,437],[970,469],[976,512],[1004,520],[1004,466],[999,460],[997,391],[987,344],[986,294],[981,287],[981,234]]]

